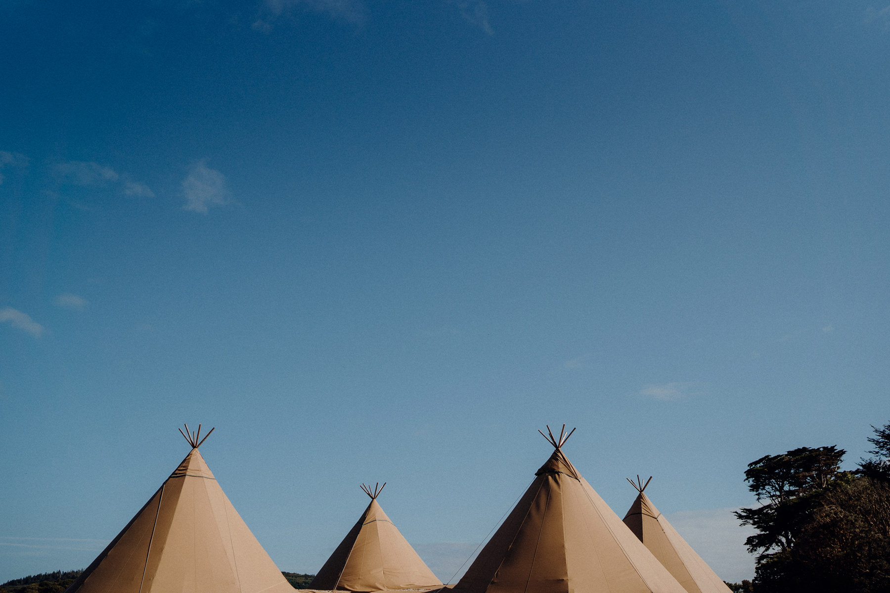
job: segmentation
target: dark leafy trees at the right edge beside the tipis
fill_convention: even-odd
[[[736,513],[757,533],[755,593],[890,591],[890,424],[874,429],[873,457],[841,471],[845,451],[801,447],[748,464],[748,488],[764,502]]]

